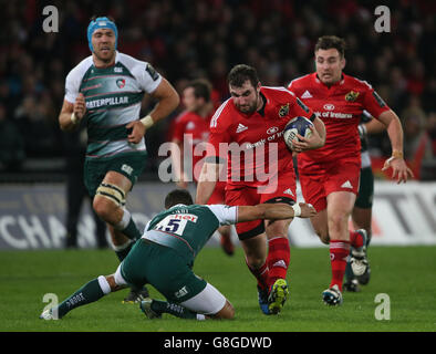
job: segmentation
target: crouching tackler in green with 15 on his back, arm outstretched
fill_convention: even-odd
[[[165,198],[167,210],[159,212],[146,226],[144,235],[120,264],[116,272],[98,277],[60,305],[45,310],[41,319],[61,319],[71,310],[97,301],[126,285],[155,287],[167,301],[146,298],[141,309],[149,319],[169,313],[183,319],[231,319],[230,302],[210,283],[193,272],[194,260],[220,225],[257,219],[282,220],[315,215],[303,202],[263,204],[253,207],[193,205],[189,192],[175,189]],[[284,301],[281,299],[281,301]]]

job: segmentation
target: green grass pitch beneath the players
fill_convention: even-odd
[[[207,248],[195,272],[233,304],[232,321],[188,321],[164,315],[147,320],[136,304],[122,304],[127,290],[79,308],[59,321],[39,320],[54,293],[62,301],[82,284],[116,270],[111,250],[0,252],[0,331],[141,331],[141,332],[324,332],[436,330],[436,247],[372,247],[372,279],[360,293],[344,293],[344,303],[329,308],[321,292],[330,282],[326,248],[291,249],[290,299],[278,316],[261,314],[256,283],[240,248],[227,257]],[[152,296],[163,299],[150,288]],[[390,320],[377,320],[378,293],[390,296]],[[383,302],[386,304],[386,302]],[[386,314],[386,312],[383,312]]]

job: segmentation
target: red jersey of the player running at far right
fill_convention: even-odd
[[[299,154],[299,170],[338,158],[355,158],[360,163],[357,125],[363,110],[375,118],[390,110],[367,82],[345,74],[331,87],[312,73],[291,81],[288,88],[313,110],[326,129],[323,147]]]

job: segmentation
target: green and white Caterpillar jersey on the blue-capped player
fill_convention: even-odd
[[[153,93],[160,81],[150,64],[120,52],[111,67],[95,67],[91,55],[68,74],[65,101],[74,104],[79,93],[85,96],[86,158],[145,153],[144,138],[138,144],[128,143],[125,126],[139,118],[144,93]]]

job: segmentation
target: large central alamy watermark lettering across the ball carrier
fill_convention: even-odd
[[[256,143],[219,143],[216,147],[210,143],[203,142],[193,146],[191,134],[185,134],[181,145],[183,152],[176,143],[160,145],[158,156],[166,158],[158,167],[159,179],[163,183],[169,183],[177,181],[183,176],[184,181],[257,181],[261,185],[258,186],[259,194],[273,192],[278,187],[279,167],[292,168],[292,166],[279,166],[279,144],[270,142],[273,138],[277,136],[271,135]],[[291,152],[286,153],[291,154]],[[178,156],[183,171],[176,170],[180,168],[175,165],[175,156],[172,155]],[[218,164],[221,167],[220,170],[215,168],[216,157],[220,158]],[[214,164],[208,164],[210,158]],[[226,174],[228,163],[229,176]]]

